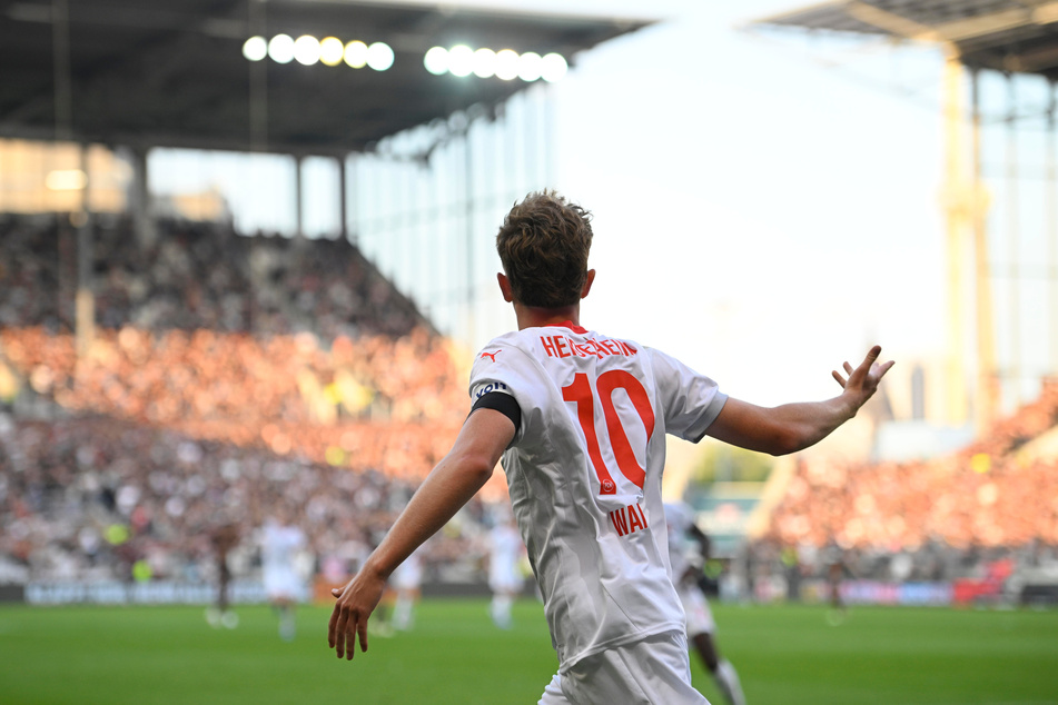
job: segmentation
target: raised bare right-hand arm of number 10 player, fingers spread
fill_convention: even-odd
[[[729,398],[716,420],[705,431],[709,436],[734,446],[771,455],[785,455],[812,446],[856,413],[878,389],[892,360],[879,364],[881,347],[868,351],[860,366],[843,365],[848,378],[833,371],[842,391],[825,401],[784,404],[765,408]]]

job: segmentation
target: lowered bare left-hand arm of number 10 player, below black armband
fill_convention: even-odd
[[[337,602],[327,638],[338,658],[353,658],[357,637],[360,651],[367,651],[367,619],[382,598],[389,574],[482,488],[514,438],[514,430],[511,419],[500,411],[474,411],[452,450],[431,470],[360,572],[344,587],[330,590]]]

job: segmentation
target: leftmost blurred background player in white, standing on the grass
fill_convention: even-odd
[[[294,525],[291,513],[280,507],[261,529],[261,573],[265,594],[279,616],[279,638],[294,641],[297,634],[294,609],[305,592],[298,569],[299,553],[305,548],[305,534]]]

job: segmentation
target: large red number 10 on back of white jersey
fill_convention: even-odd
[[[606,418],[606,430],[610,436],[610,446],[613,455],[617,459],[617,467],[621,473],[636,487],[643,487],[643,480],[646,478],[646,470],[640,466],[635,459],[635,453],[632,450],[632,444],[629,443],[629,435],[624,430],[621,417],[613,406],[613,393],[617,388],[624,389],[635,407],[635,411],[643,421],[646,429],[646,440],[650,441],[654,433],[654,409],[650,406],[650,397],[642,383],[623,369],[611,369],[599,376],[595,380],[595,389],[599,391],[599,398],[603,405],[603,414]],[[595,401],[592,396],[592,384],[584,373],[577,373],[573,377],[573,384],[562,388],[562,398],[566,401],[576,403],[576,419],[584,430],[584,438],[587,440],[587,455],[595,467],[595,475],[599,477],[601,487],[600,494],[613,495],[617,491],[614,485],[613,476],[603,460],[602,451],[599,448],[599,436],[595,434]]]

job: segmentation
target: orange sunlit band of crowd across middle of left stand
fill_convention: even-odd
[[[313,334],[126,326],[100,329],[80,358],[72,334],[39,327],[0,329],[0,345],[34,391],[66,408],[166,426],[235,421],[259,433],[271,423],[443,421],[467,404],[447,344],[422,328],[324,348]]]

